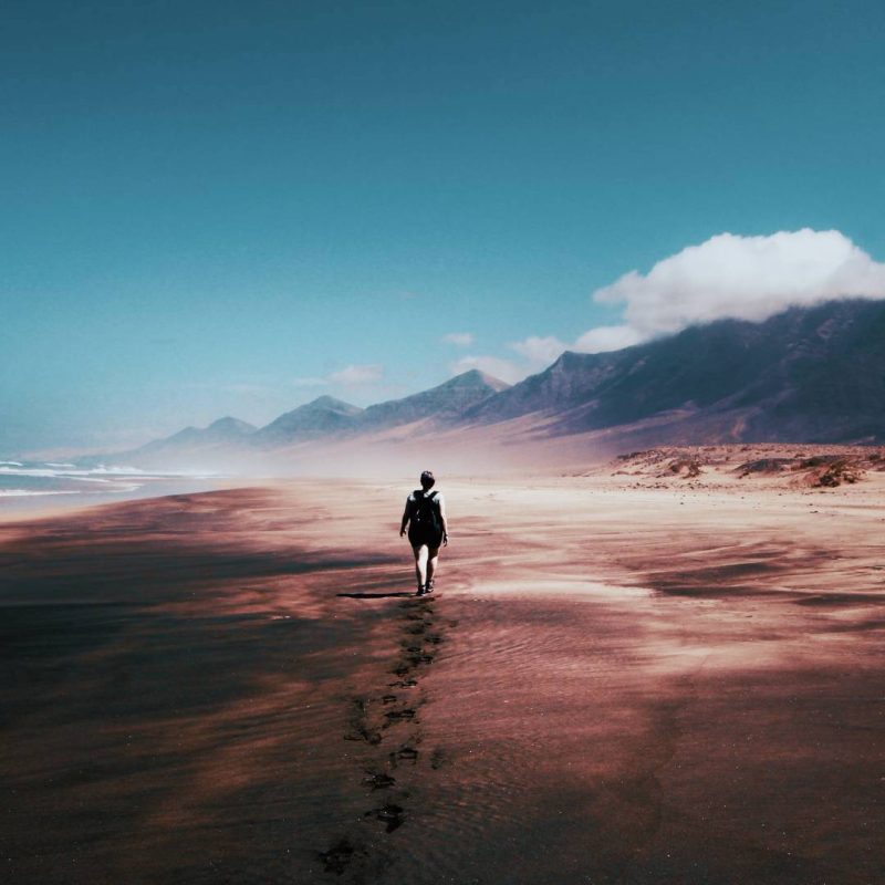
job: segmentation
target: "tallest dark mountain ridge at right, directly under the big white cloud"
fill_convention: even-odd
[[[551,418],[552,435],[654,419],[658,441],[883,441],[885,302],[829,302],[612,353],[566,352],[465,420],[529,414]]]

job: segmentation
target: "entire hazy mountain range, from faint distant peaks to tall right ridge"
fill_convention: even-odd
[[[155,467],[292,454],[343,440],[512,429],[555,440],[885,441],[885,302],[793,308],[762,323],[720,320],[621,351],[565,352],[508,385],[476,369],[367,408],[321,396],[264,427],[221,418],[88,460]],[[385,437],[386,435],[386,437]]]

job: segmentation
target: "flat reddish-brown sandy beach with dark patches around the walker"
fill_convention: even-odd
[[[445,491],[0,525],[3,879],[883,881],[878,486]]]

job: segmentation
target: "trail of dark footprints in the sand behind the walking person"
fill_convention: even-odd
[[[362,882],[385,862],[383,851],[369,847],[377,840],[365,837],[374,834],[366,834],[362,827],[381,827],[386,834],[408,821],[409,792],[403,782],[414,777],[410,769],[425,763],[418,716],[426,702],[421,678],[444,641],[436,626],[435,602],[433,596],[416,596],[399,604],[400,650],[386,674],[388,681],[376,694],[350,701],[344,739],[366,747],[361,785],[373,804],[348,834],[327,851],[319,852],[326,873],[342,875],[350,871],[353,882]],[[456,624],[450,622],[449,626]],[[426,753],[426,762],[438,769],[444,763],[441,750]]]

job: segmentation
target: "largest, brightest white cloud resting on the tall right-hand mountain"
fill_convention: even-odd
[[[598,289],[598,303],[624,304],[624,325],[593,329],[582,350],[626,346],[686,326],[733,317],[761,322],[790,306],[839,298],[885,298],[885,264],[837,230],[720,233],[625,273]],[[603,346],[604,345],[604,346]]]

